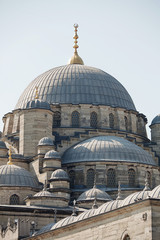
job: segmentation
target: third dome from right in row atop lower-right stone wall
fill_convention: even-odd
[[[104,203],[103,205],[101,205],[97,210],[96,213],[100,214],[100,213],[105,213],[105,212],[109,212],[111,210],[114,210],[116,208],[119,208],[121,206],[121,203],[123,202],[123,200],[113,200],[107,203]]]

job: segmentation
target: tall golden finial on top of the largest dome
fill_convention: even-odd
[[[82,58],[78,55],[78,52],[77,52],[77,48],[79,48],[79,46],[77,45],[78,41],[78,35],[77,35],[77,28],[78,28],[78,24],[74,24],[74,31],[75,31],[75,35],[74,35],[74,55],[71,57],[70,61],[69,61],[69,64],[81,64],[81,65],[84,65],[84,62],[82,60]]]

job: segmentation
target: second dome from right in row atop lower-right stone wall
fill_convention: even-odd
[[[124,200],[122,200],[121,207],[126,206],[128,204],[135,203],[139,200],[147,199],[151,194],[151,191],[141,191],[141,192],[135,192],[126,197]]]

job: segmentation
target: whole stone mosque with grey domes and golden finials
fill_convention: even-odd
[[[0,239],[160,239],[160,115],[74,54],[3,117]]]

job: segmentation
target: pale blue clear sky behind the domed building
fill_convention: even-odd
[[[149,123],[160,113],[159,0],[0,0],[0,130],[25,87],[73,55],[74,23],[85,64],[117,78]]]

